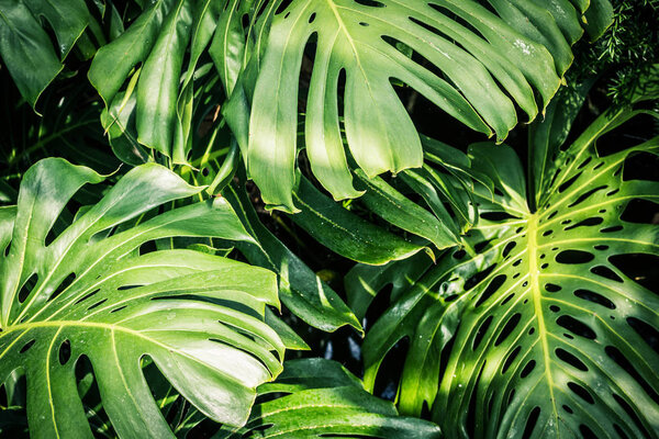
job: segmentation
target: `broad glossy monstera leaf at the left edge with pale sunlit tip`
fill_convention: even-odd
[[[120,437],[172,437],[147,360],[202,414],[243,425],[256,386],[281,370],[283,344],[265,324],[266,305],[279,305],[275,274],[188,249],[148,251],[169,237],[253,241],[221,199],[156,214],[202,188],[153,164],[55,232],[71,195],[101,180],[44,159],[18,205],[0,209],[0,382],[25,375],[30,434],[92,436],[76,384],[82,358]]]

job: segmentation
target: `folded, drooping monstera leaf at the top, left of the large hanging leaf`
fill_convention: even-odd
[[[107,130],[118,124],[123,132],[131,120],[135,133],[129,136],[135,137],[132,140],[137,148],[155,149],[176,164],[188,162],[192,113],[200,101],[194,79],[211,68],[202,56],[213,41],[226,3],[149,2],[126,32],[101,47],[89,80],[108,106],[103,121]]]

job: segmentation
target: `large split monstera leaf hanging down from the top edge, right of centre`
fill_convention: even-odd
[[[342,140],[342,114],[349,153],[369,177],[422,165],[418,135],[392,80],[501,140],[517,123],[515,104],[534,120],[558,89],[572,60],[570,46],[583,33],[587,8],[600,19],[592,20],[593,27],[606,27],[611,19],[607,1],[590,8],[568,0],[483,3],[489,4],[294,0],[277,2],[278,11],[264,8],[271,27],[253,32],[258,53],[246,67],[247,90],[234,92],[230,105],[244,109],[241,102],[250,101],[248,137],[242,114],[230,110],[227,117],[243,133],[238,139],[249,176],[266,203],[295,211],[291,192],[305,46],[313,59],[303,110],[306,154],[314,175],[339,200],[359,195]],[[339,88],[343,77],[345,90]]]

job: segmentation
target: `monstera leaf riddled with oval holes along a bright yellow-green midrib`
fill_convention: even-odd
[[[494,195],[480,191],[481,223],[465,248],[372,326],[367,385],[409,337],[401,412],[433,405],[447,437],[658,437],[659,299],[624,261],[659,255],[658,226],[626,214],[633,201],[656,206],[659,183],[625,177],[624,165],[657,155],[659,138],[608,155],[595,145],[643,113],[612,110],[569,146],[546,148],[532,169],[548,183],[528,195],[512,149],[472,146],[472,167],[492,179]],[[556,145],[563,131],[540,125],[532,147]]]

